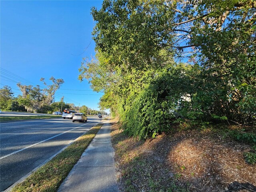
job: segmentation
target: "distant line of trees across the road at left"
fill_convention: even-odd
[[[0,89],[0,107],[1,110],[9,111],[22,111],[22,112],[38,112],[38,113],[52,113],[55,111],[62,112],[65,108],[84,112],[85,114],[99,114],[99,110],[93,110],[87,106],[75,106],[73,103],[65,103],[64,97],[60,102],[54,102],[54,94],[64,83],[62,79],[50,78],[52,85],[47,85],[44,82],[44,78],[41,81],[44,82],[47,88],[41,89],[40,86],[27,86],[20,83],[17,84],[20,88],[22,95],[14,97],[14,92],[10,86],[3,86]]]

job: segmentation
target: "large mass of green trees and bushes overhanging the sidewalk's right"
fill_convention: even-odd
[[[255,124],[255,12],[253,0],[104,0],[79,78],[140,139],[177,118]]]

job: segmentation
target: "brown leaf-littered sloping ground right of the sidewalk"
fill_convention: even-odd
[[[120,191],[256,192],[256,165],[244,161],[250,146],[209,130],[156,139],[128,138],[112,126]]]

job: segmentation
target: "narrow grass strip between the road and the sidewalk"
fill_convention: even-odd
[[[12,192],[55,192],[103,124],[97,124],[52,160],[40,167]]]

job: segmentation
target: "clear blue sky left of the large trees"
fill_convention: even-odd
[[[40,78],[62,78],[55,101],[96,109],[102,93],[78,80],[82,58],[95,55],[90,9],[102,1],[0,1],[0,86],[21,94],[17,82],[40,85]]]

